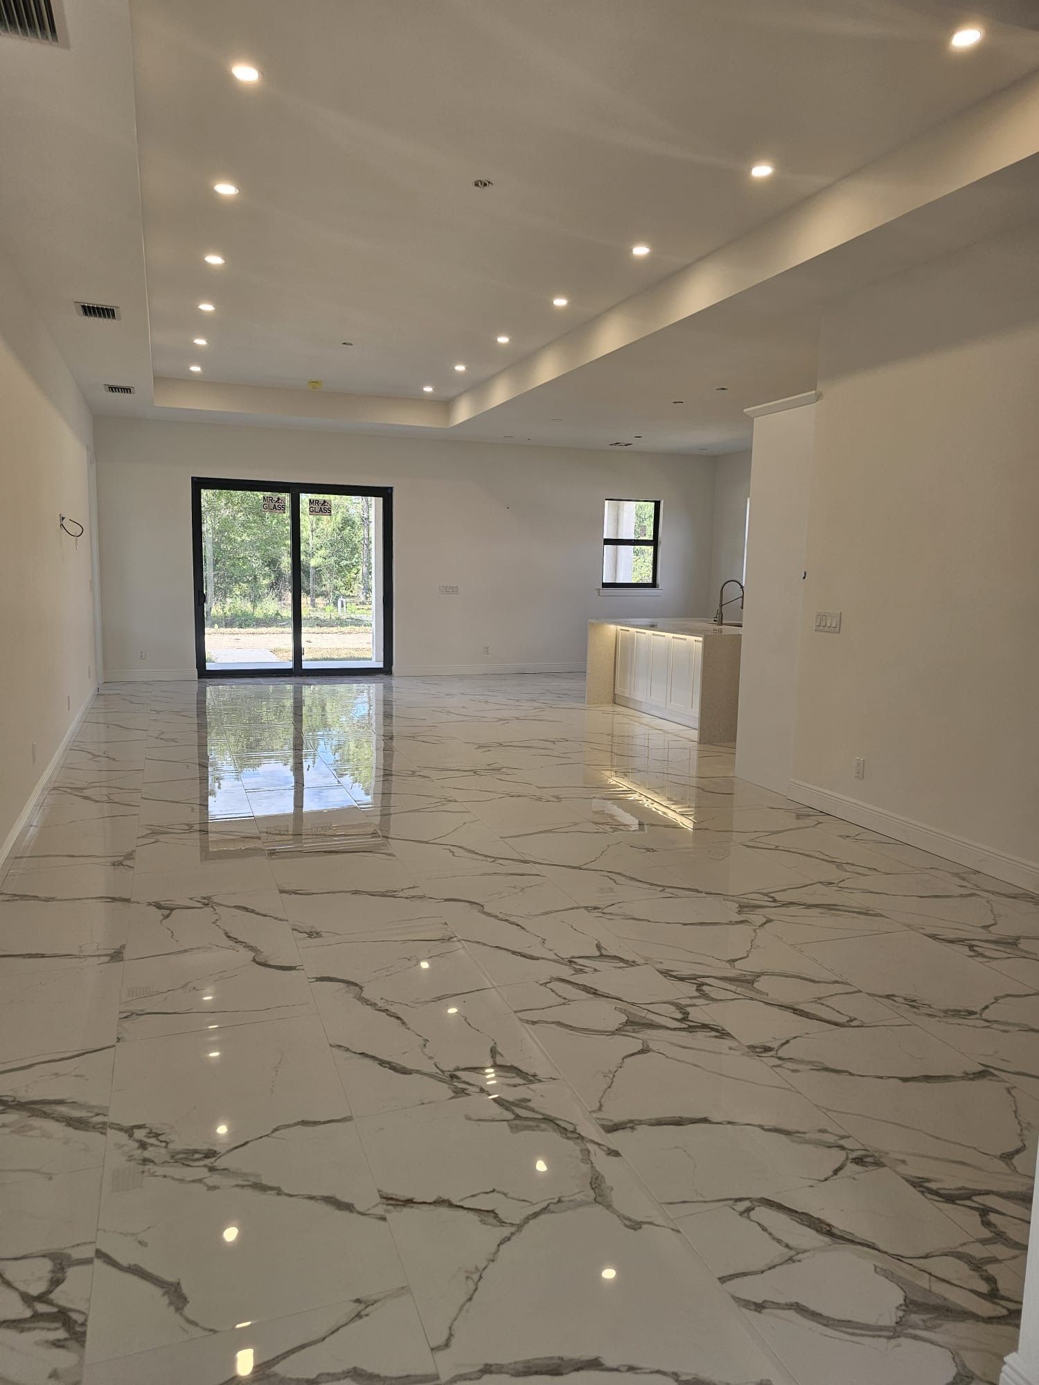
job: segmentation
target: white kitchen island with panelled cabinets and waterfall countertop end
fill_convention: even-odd
[[[736,741],[738,625],[689,620],[589,620],[590,705],[616,702],[677,722],[698,740]]]

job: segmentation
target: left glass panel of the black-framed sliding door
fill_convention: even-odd
[[[291,672],[291,508],[285,492],[202,486],[206,672]]]

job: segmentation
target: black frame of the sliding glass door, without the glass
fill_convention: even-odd
[[[202,564],[202,492],[256,490],[260,494],[285,494],[290,503],[290,565],[292,573],[292,668],[208,669],[205,665],[205,573]],[[370,669],[303,668],[303,584],[301,580],[299,497],[375,496],[382,501],[382,663]],[[195,669],[199,679],[291,679],[291,677],[367,677],[393,672],[393,488],[334,486],[317,481],[240,481],[237,476],[191,478],[191,557],[195,608]]]

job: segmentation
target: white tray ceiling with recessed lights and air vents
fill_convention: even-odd
[[[945,0],[66,12],[66,53],[0,40],[17,136],[0,240],[97,411],[151,411],[152,374],[190,381],[195,361],[205,382],[418,400],[432,384],[446,400],[1039,69],[1039,35],[991,18],[985,43],[950,53],[964,14]],[[777,173],[759,183],[762,158]],[[118,302],[123,323],[82,323],[75,298]],[[700,314],[453,434],[731,450],[744,407],[810,388],[815,337],[813,310]],[[133,400],[98,392],[112,373]]]

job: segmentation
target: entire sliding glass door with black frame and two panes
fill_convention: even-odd
[[[392,490],[191,482],[199,677],[391,672]]]

